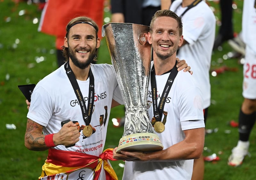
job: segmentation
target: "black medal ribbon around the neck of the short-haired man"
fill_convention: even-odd
[[[174,66],[172,68],[171,73],[168,77],[168,80],[165,84],[162,97],[161,97],[160,102],[157,107],[157,89],[156,89],[156,77],[155,77],[156,73],[155,73],[154,65],[152,67],[151,74],[150,74],[150,76],[151,76],[151,91],[152,91],[153,112],[154,112],[154,117],[156,118],[156,121],[161,121],[161,119],[162,119],[162,114],[164,111],[164,104],[166,102],[166,98],[171,90],[172,83],[173,83],[177,73],[178,73],[177,67]]]

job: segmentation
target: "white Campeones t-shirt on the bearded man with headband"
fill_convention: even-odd
[[[94,76],[95,94],[90,124],[96,132],[85,138],[81,131],[80,140],[75,146],[66,148],[64,145],[58,145],[54,147],[55,149],[95,156],[99,156],[103,152],[112,98],[120,104],[123,103],[123,100],[112,65],[91,64],[91,69]],[[89,79],[86,81],[77,80],[86,107],[88,104]],[[78,121],[80,126],[85,125],[81,107],[64,65],[37,83],[31,96],[31,105],[27,117],[44,126],[43,133],[45,135],[57,133],[61,128],[61,121],[64,120],[70,119],[71,121]],[[106,123],[100,125],[100,118]]]

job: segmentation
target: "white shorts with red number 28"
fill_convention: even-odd
[[[246,46],[243,67],[243,97],[256,99],[256,54]]]

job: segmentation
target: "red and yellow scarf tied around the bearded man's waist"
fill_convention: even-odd
[[[45,176],[54,179],[53,177],[59,173],[69,174],[81,168],[92,169],[94,171],[93,179],[97,180],[100,176],[102,163],[106,180],[117,180],[116,173],[107,160],[116,160],[113,158],[113,148],[104,150],[99,157],[78,152],[49,149],[48,157],[42,167],[42,174],[39,180],[41,178],[45,179]]]

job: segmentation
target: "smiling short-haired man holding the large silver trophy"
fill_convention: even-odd
[[[113,157],[126,160],[124,180],[191,180],[193,159],[201,156],[204,147],[204,114],[195,79],[175,67],[176,52],[183,43],[181,18],[170,10],[157,11],[150,23],[148,42],[153,48],[148,87],[148,101],[152,104],[148,113],[161,127],[159,130],[154,125],[164,149],[116,153],[115,148]]]

